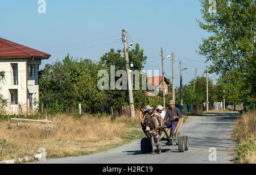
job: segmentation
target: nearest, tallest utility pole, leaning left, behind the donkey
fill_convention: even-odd
[[[130,116],[132,118],[135,118],[134,102],[133,102],[133,86],[131,85],[129,55],[128,55],[127,38],[126,38],[125,29],[122,30],[122,33],[123,33],[123,46],[125,47],[125,61],[126,61],[127,81],[128,81],[128,89],[129,89]]]

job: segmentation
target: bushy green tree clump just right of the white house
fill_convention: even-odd
[[[100,69],[91,60],[73,59],[69,55],[62,62],[47,64],[40,77],[40,103],[49,113],[76,111],[79,103],[85,112],[101,111],[105,98],[97,89]]]

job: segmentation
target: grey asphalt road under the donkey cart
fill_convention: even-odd
[[[189,150],[183,153],[177,146],[162,147],[162,154],[141,154],[141,140],[135,140],[109,151],[89,156],[49,159],[40,164],[175,164],[175,163],[232,163],[233,148],[232,128],[237,119],[234,113],[209,114],[192,117],[181,127],[181,135],[187,135]],[[216,161],[209,160],[209,148],[216,148]],[[153,159],[154,158],[154,159]],[[214,158],[214,157],[213,157]]]

